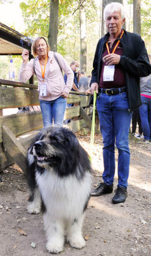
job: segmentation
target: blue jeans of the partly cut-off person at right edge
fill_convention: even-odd
[[[145,140],[151,140],[151,99],[141,96],[142,105],[139,108],[141,126]]]

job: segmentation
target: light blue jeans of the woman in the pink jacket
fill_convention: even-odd
[[[55,100],[40,100],[44,127],[54,124],[62,125],[66,111],[66,99],[59,97]]]

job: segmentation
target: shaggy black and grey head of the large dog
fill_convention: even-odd
[[[90,170],[87,152],[80,146],[75,134],[67,128],[50,126],[41,130],[29,148],[37,166],[53,168],[58,175],[82,175]],[[28,156],[28,158],[30,158]]]

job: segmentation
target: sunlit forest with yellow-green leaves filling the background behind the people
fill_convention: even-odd
[[[24,35],[24,39],[36,38],[36,36],[45,36],[50,38],[51,30],[55,27],[57,31],[57,52],[61,53],[70,64],[71,61],[76,60],[82,65],[82,33],[84,40],[84,47],[86,47],[85,58],[86,67],[85,75],[90,75],[92,71],[92,62],[96,50],[96,44],[101,36],[106,33],[103,27],[103,8],[111,0],[26,0],[20,1],[20,8],[22,10],[22,17],[24,19],[24,26],[18,31]],[[59,2],[58,26],[50,22],[51,2]],[[117,0],[124,4],[126,11],[126,30],[130,32],[140,33],[145,41],[147,51],[151,54],[151,4],[150,0]],[[0,10],[2,4],[8,4],[11,8],[13,0],[0,0]],[[139,15],[140,7],[140,22],[136,14],[133,17],[133,12]],[[81,13],[80,13],[81,12]],[[7,13],[6,13],[7,15]],[[82,15],[85,15],[82,17]],[[0,15],[1,17],[1,15]],[[10,17],[11,18],[11,17]],[[85,24],[83,24],[83,19]],[[134,19],[133,19],[134,18]],[[1,19],[1,18],[0,18]],[[6,24],[10,28],[15,28],[13,19],[8,19]],[[135,22],[134,22],[135,20]],[[1,21],[1,20],[0,20]],[[2,22],[3,23],[3,22]],[[133,26],[134,25],[134,26]],[[83,26],[83,27],[82,27]],[[137,26],[137,28],[136,28]],[[83,31],[82,31],[83,29]],[[49,36],[48,36],[49,35]],[[15,65],[15,80],[18,81],[18,72],[22,63],[21,56],[0,56],[0,78],[9,79],[9,65],[10,58],[13,58]]]

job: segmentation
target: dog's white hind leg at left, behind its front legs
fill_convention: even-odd
[[[41,210],[41,196],[38,188],[34,189],[34,193],[31,197],[32,199],[29,200],[29,204],[27,205],[27,211],[29,213],[38,214]]]

